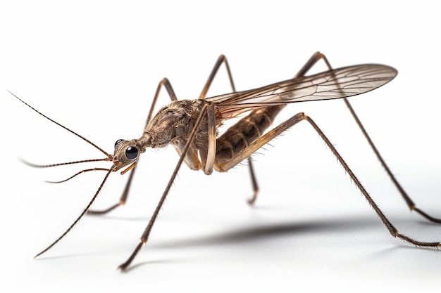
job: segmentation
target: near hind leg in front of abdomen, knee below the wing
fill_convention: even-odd
[[[340,164],[342,164],[344,171],[346,171],[346,173],[349,174],[352,181],[354,181],[356,187],[360,190],[361,194],[364,195],[366,200],[369,202],[371,207],[374,209],[375,213],[377,213],[378,217],[385,224],[387,230],[389,230],[390,234],[393,237],[398,237],[398,238],[400,238],[406,242],[409,242],[412,245],[416,245],[418,247],[441,248],[440,242],[421,242],[421,241],[414,240],[410,237],[406,237],[405,235],[398,233],[397,228],[395,228],[395,226],[393,226],[392,223],[390,223],[390,221],[387,219],[385,214],[383,214],[383,211],[381,211],[380,208],[378,207],[378,205],[375,204],[371,195],[369,195],[368,192],[366,191],[366,189],[363,187],[363,185],[361,185],[359,179],[356,178],[356,176],[354,175],[352,170],[348,167],[346,162],[344,162],[344,159],[337,152],[337,149],[334,147],[334,145],[332,143],[330,143],[329,139],[325,136],[325,134],[323,134],[323,131],[321,131],[321,129],[318,128],[317,124],[315,122],[313,122],[313,119],[304,115],[304,113],[298,113],[297,115],[294,115],[293,117],[291,117],[287,121],[282,122],[282,124],[276,126],[271,131],[268,131],[268,133],[261,136],[258,140],[254,141],[254,143],[251,143],[251,145],[249,145],[248,148],[245,148],[241,152],[238,152],[237,155],[235,155],[234,157],[232,157],[232,159],[230,159],[230,161],[227,161],[227,162],[221,164],[221,166],[219,166],[219,169],[221,169],[222,171],[228,171],[228,169],[235,167],[236,164],[239,164],[240,162],[242,162],[243,159],[245,159],[246,157],[249,157],[253,152],[255,152],[256,150],[261,148],[263,145],[266,145],[266,143],[271,141],[271,139],[282,134],[283,131],[289,129],[291,126],[294,126],[295,124],[297,124],[298,122],[301,122],[302,120],[306,120],[307,122],[309,122],[309,124],[311,124],[311,126],[313,126],[313,129],[315,129],[317,131],[318,135],[323,139],[323,141],[325,141],[326,145],[328,145],[328,148],[330,148],[330,150],[333,152],[335,157],[337,157],[338,162],[340,162]]]

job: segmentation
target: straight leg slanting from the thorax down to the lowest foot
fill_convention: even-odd
[[[153,227],[154,222],[156,221],[156,218],[158,217],[159,211],[161,210],[161,207],[162,207],[162,205],[168,195],[168,191],[170,190],[171,185],[173,184],[173,181],[175,181],[176,175],[178,175],[178,171],[180,169],[180,166],[182,165],[182,162],[184,162],[185,155],[186,155],[187,151],[190,149],[190,145],[192,144],[194,136],[196,135],[197,129],[199,129],[199,126],[202,122],[202,119],[206,115],[209,107],[210,107],[210,105],[206,104],[206,105],[204,105],[204,108],[202,108],[201,114],[199,115],[196,123],[194,124],[192,133],[190,134],[190,137],[188,138],[187,144],[185,145],[185,148],[182,150],[182,154],[180,155],[178,164],[176,164],[175,170],[173,171],[173,174],[170,177],[170,181],[168,181],[168,185],[166,187],[166,190],[164,190],[163,195],[161,197],[161,200],[159,200],[158,206],[156,207],[153,216],[151,216],[149,224],[147,225],[147,227],[145,228],[144,232],[141,235],[141,241],[139,242],[139,244],[137,245],[135,250],[132,252],[132,254],[128,258],[128,260],[125,261],[125,263],[121,264],[118,267],[121,269],[121,271],[125,271],[128,268],[128,266],[130,266],[130,263],[132,263],[133,259],[135,259],[135,256],[139,252],[139,249],[141,249],[142,245],[144,245],[144,243],[146,243],[147,240],[149,239],[151,228]]]

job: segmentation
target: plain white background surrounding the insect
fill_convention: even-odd
[[[178,98],[197,98],[221,53],[238,90],[292,77],[318,50],[334,67],[391,65],[395,80],[351,102],[418,207],[441,216],[435,1],[10,2],[0,6],[1,292],[422,292],[440,283],[441,253],[391,237],[305,122],[254,156],[254,208],[246,204],[246,166],[212,176],[183,167],[128,273],[116,268],[178,161],[173,148],[142,156],[125,207],[85,217],[34,260],[85,208],[104,173],[51,185],[44,180],[82,166],[33,169],[19,159],[102,154],[6,91],[113,152],[118,138],[142,133],[163,77]],[[222,68],[209,96],[228,91]],[[290,105],[278,121],[299,111],[316,120],[401,232],[441,240],[440,226],[406,208],[341,100]],[[116,202],[126,176],[112,174],[94,207]]]

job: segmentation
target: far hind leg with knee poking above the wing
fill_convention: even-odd
[[[313,54],[313,56],[311,56],[311,58],[309,58],[308,62],[306,62],[304,67],[302,67],[302,69],[299,70],[299,72],[295,75],[295,77],[304,76],[306,74],[306,72],[308,72],[309,69],[311,69],[311,67],[313,67],[313,65],[316,64],[318,62],[318,60],[321,60],[321,59],[323,59],[323,61],[325,61],[328,69],[332,70],[332,67],[331,67],[328,59],[326,58],[326,56],[320,52],[316,52]],[[424,211],[422,211],[421,209],[418,209],[418,207],[416,207],[416,204],[414,204],[414,202],[411,200],[409,195],[407,195],[406,191],[404,191],[404,189],[402,188],[402,185],[399,184],[399,182],[397,181],[395,176],[392,174],[392,171],[390,171],[389,167],[387,166],[385,160],[380,155],[380,152],[373,144],[371,137],[368,135],[363,124],[361,124],[361,121],[360,121],[359,117],[356,115],[354,108],[352,108],[352,105],[349,103],[349,100],[347,100],[347,98],[344,98],[343,100],[344,100],[344,103],[346,104],[347,108],[349,109],[349,112],[351,112],[352,117],[354,117],[356,124],[360,127],[361,132],[364,134],[364,137],[368,141],[369,145],[371,145],[373,152],[377,156],[377,158],[380,161],[383,168],[386,170],[387,175],[389,175],[390,179],[394,183],[395,187],[398,189],[399,193],[402,195],[402,197],[403,197],[404,201],[406,202],[407,206],[409,207],[409,209],[411,211],[416,211],[418,214],[421,214],[421,216],[425,217],[429,221],[433,221],[435,223],[441,223],[441,219],[434,218],[433,216],[426,214]]]

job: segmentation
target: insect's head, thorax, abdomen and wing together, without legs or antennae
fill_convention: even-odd
[[[182,154],[195,129],[195,122],[201,116],[184,162],[192,169],[204,169],[206,174],[211,174],[213,167],[217,171],[228,171],[251,155],[252,152],[244,157],[241,151],[262,136],[286,103],[355,96],[382,86],[396,74],[395,69],[385,65],[357,65],[310,77],[297,77],[251,91],[198,100],[174,100],[147,122],[141,138],[130,143],[121,141],[123,145],[116,148],[113,162],[120,169],[137,160],[137,157],[127,159],[127,148],[144,152],[146,148],[161,148],[171,144]],[[216,127],[225,119],[250,110],[247,117],[225,131],[216,141]],[[211,150],[216,152],[213,151],[210,161]]]

